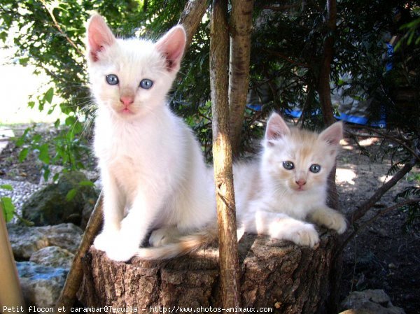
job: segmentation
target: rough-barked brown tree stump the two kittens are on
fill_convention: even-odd
[[[337,268],[332,264],[337,236],[325,231],[320,238],[311,249],[244,235],[239,241],[242,306],[255,312],[331,313],[337,301]],[[199,313],[222,307],[217,248],[168,261],[134,258],[128,264],[113,262],[91,247],[83,271],[78,299],[88,307],[109,306],[103,312],[150,313],[161,306],[161,313],[178,307]]]

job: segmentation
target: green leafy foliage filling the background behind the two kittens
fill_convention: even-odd
[[[286,113],[300,108],[302,124],[312,128],[321,125],[318,76],[323,42],[333,36],[332,90],[348,85],[344,96],[369,99],[370,119],[386,115],[388,127],[403,134],[391,152],[393,164],[398,166],[416,154],[419,143],[419,1],[337,1],[334,34],[325,27],[325,2],[255,1],[249,103],[262,104],[262,109],[246,109],[241,148],[248,149],[251,140],[262,134],[261,122],[272,110]],[[93,10],[120,36],[157,38],[178,22],[185,4],[175,0],[3,0],[0,39],[7,42],[12,33],[13,45],[19,48],[15,60],[34,64],[37,71],[50,77],[29,106],[59,106],[69,115],[66,127],[48,143],[26,131],[18,141],[21,158],[35,150],[46,173],[48,164],[57,162],[66,169],[83,167],[80,157],[87,154],[89,139],[89,132],[83,132],[83,121],[94,115],[83,58],[84,25]],[[169,101],[193,127],[210,158],[208,23],[204,17]],[[398,48],[394,49],[395,43],[387,48],[394,40]],[[386,69],[389,65],[391,69]],[[350,83],[342,80],[344,73],[351,73]],[[62,101],[58,104],[56,99]]]

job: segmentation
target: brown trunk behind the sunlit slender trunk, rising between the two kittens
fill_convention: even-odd
[[[232,0],[230,14],[229,107],[233,157],[239,157],[248,94],[253,0]]]

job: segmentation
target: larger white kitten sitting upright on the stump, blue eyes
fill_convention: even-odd
[[[216,220],[200,146],[166,104],[186,43],[181,26],[157,43],[118,39],[100,15],[87,26],[87,65],[97,102],[94,151],[104,186],[95,248],[109,258],[157,258],[139,249]],[[167,239],[165,239],[167,237]],[[188,248],[186,248],[188,249]]]

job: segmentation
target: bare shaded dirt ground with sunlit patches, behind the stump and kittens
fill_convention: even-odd
[[[372,156],[379,152],[379,141],[366,138],[359,142]],[[0,155],[0,179],[27,180],[38,183],[40,165],[36,157],[18,163],[20,149],[10,143]],[[386,178],[389,160],[360,154],[358,146],[349,138],[343,141],[343,149],[337,160],[337,190],[341,210],[344,213],[356,208],[380,187]],[[414,173],[419,173],[416,169]],[[395,194],[404,187],[419,185],[413,174],[406,176],[370,210],[372,217],[378,210],[391,206]],[[349,242],[344,249],[342,273],[342,299],[351,291],[383,289],[395,306],[407,314],[420,314],[420,223],[410,231],[403,225],[407,213],[394,210],[379,217]]]

